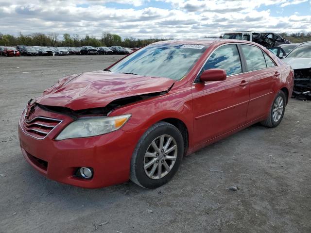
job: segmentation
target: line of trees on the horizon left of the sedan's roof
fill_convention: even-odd
[[[63,34],[63,39],[59,38],[58,33],[32,33],[22,34],[19,33],[17,36],[10,34],[0,33],[0,45],[6,46],[53,46],[53,47],[80,47],[80,46],[122,46],[128,48],[142,47],[157,41],[173,39],[173,38],[158,38],[153,37],[149,39],[136,39],[135,37],[127,37],[122,39],[120,35],[109,32],[103,32],[101,38],[86,35],[80,37],[78,34],[70,35],[69,33]]]

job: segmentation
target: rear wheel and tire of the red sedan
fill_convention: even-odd
[[[274,128],[278,126],[283,119],[285,113],[285,106],[286,106],[286,96],[283,91],[279,91],[276,95],[276,98],[272,102],[269,117],[264,121],[261,121],[260,123],[269,128]]]

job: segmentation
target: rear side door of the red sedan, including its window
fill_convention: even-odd
[[[249,104],[246,121],[251,122],[269,112],[274,99],[280,69],[259,47],[241,45],[249,77]]]

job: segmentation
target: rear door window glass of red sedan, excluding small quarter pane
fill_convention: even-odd
[[[251,45],[241,45],[248,71],[267,68],[262,51]]]

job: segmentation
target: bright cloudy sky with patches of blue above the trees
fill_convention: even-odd
[[[0,0],[0,32],[202,38],[311,32],[311,0]]]

